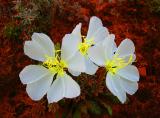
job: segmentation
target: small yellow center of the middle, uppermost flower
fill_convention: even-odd
[[[88,49],[94,44],[93,39],[86,39],[82,36],[83,42],[78,45],[78,49],[83,56],[87,56]]]

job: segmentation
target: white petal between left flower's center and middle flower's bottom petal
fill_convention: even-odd
[[[76,54],[68,60],[68,69],[84,72],[85,71],[85,57],[80,54],[80,52],[76,52]]]

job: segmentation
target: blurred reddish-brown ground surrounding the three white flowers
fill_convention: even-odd
[[[116,43],[131,39],[136,47],[139,89],[121,104],[106,88],[105,73],[76,78],[81,96],[47,103],[26,94],[19,72],[37,63],[23,52],[33,32],[43,32],[59,46],[81,22],[99,17]],[[160,118],[160,0],[0,0],[0,118]]]

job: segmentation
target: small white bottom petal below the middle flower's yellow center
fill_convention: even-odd
[[[98,70],[98,66],[96,66],[90,59],[85,58],[86,70],[85,73],[89,75],[93,75]]]

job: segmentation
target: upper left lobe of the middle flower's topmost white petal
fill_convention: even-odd
[[[102,21],[98,17],[92,16],[89,22],[87,39],[90,39],[93,36],[93,34],[96,32],[96,30],[102,26],[103,26]]]

